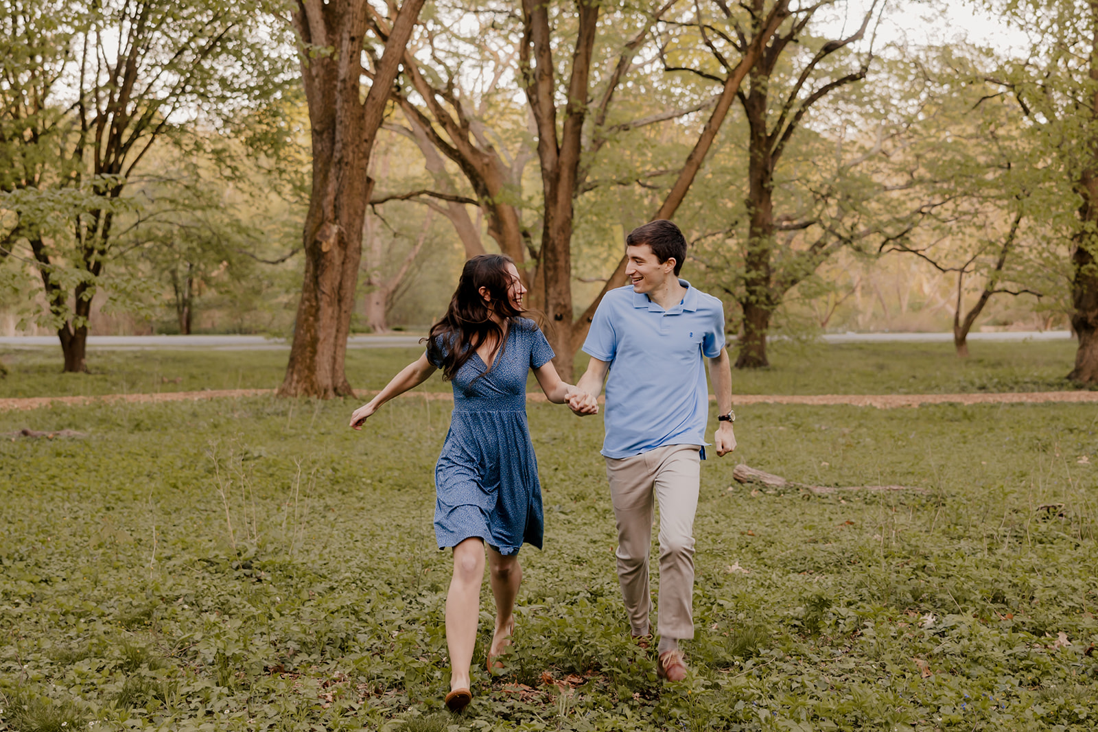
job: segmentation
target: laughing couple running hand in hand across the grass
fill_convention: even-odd
[[[523,317],[526,288],[514,262],[481,255],[466,262],[446,315],[432,326],[426,352],[405,367],[351,415],[361,429],[382,404],[442,369],[453,384],[450,430],[435,466],[435,534],[453,549],[446,597],[450,691],[446,706],[472,700],[470,664],[477,639],[485,548],[495,632],[488,668],[511,644],[523,543],[541,548],[545,519],[537,460],[526,424],[526,378],[533,369],[546,397],[578,415],[598,412],[606,384],[606,459],[617,520],[617,573],[630,632],[642,647],[652,640],[648,556],[653,505],[660,509],[660,676],[686,676],[679,641],[694,638],[694,514],[709,416],[704,359],[720,416],[718,455],[736,449],[731,369],[719,300],[679,279],[686,240],[669,221],[654,221],[626,239],[630,284],[606,293],[583,350],[586,372],[573,386],[561,381],[545,335]],[[607,374],[609,378],[607,379]]]

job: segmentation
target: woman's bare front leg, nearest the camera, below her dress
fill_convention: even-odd
[[[484,542],[466,539],[453,548],[453,578],[446,594],[446,646],[450,652],[450,688],[470,687],[469,665],[477,644],[480,586],[484,579]]]

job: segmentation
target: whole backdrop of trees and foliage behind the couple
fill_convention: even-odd
[[[914,1],[0,5],[0,330],[68,371],[88,333],[264,333],[284,390],[340,393],[302,338],[423,329],[502,251],[568,374],[625,235],[670,217],[742,368],[775,335],[1071,325],[1098,379],[1089,3],[965,5],[1009,46],[920,41],[962,11]]]

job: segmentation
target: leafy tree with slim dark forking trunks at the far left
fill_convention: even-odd
[[[65,370],[85,371],[127,184],[154,145],[274,94],[278,36],[254,0],[3,2],[16,81],[0,85],[0,134],[4,167],[21,171],[4,183],[19,216],[4,250],[30,250]]]

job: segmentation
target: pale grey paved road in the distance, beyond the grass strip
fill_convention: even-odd
[[[347,348],[416,348],[422,335],[385,334],[351,336]],[[1067,330],[974,333],[972,341],[1069,340]],[[781,336],[777,337],[781,339]],[[953,342],[951,333],[832,333],[820,336],[826,344]],[[56,336],[3,336],[0,348],[57,348]],[[186,349],[215,351],[278,351],[290,344],[266,336],[89,336],[88,348],[110,350]]]

